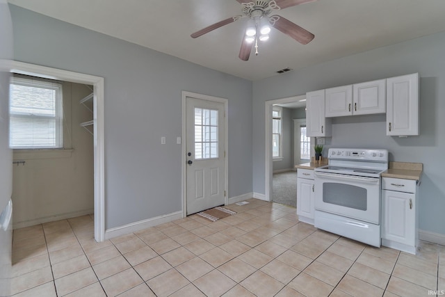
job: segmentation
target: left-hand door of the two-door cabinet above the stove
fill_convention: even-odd
[[[353,85],[325,90],[325,117],[353,115]]]

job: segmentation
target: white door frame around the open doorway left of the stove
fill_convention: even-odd
[[[272,177],[273,177],[273,161],[272,161],[272,106],[273,104],[285,104],[292,102],[299,102],[306,99],[306,95],[298,95],[286,97],[281,99],[268,100],[265,103],[265,143],[264,143],[264,200],[272,201],[270,192],[272,191]]]

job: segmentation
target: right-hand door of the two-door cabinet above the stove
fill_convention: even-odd
[[[386,79],[353,85],[353,114],[369,115],[387,111]]]

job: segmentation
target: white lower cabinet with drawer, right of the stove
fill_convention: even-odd
[[[415,180],[382,177],[382,246],[416,253],[418,192]]]

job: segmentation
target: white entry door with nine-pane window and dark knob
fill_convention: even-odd
[[[186,98],[187,214],[225,203],[224,104]]]

